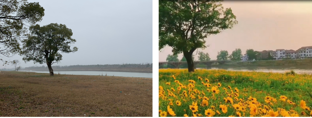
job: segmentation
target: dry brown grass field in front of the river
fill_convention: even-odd
[[[152,79],[0,72],[0,116],[149,116]]]

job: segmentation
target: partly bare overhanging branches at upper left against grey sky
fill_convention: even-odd
[[[26,26],[41,21],[44,9],[39,2],[27,0],[1,0],[0,8],[0,55],[12,57],[21,50],[19,41],[27,33]]]

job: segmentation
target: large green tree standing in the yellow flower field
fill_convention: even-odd
[[[220,2],[159,1],[159,50],[168,45],[173,48],[173,55],[183,53],[188,72],[194,72],[192,54],[197,48],[207,47],[204,38],[237,24],[231,8],[224,9]]]

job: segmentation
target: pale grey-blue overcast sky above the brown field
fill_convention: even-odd
[[[65,24],[77,42],[75,53],[61,53],[61,63],[53,65],[89,65],[152,63],[151,0],[28,0],[45,9],[40,26]],[[3,56],[3,55],[2,55]],[[0,57],[2,58],[2,57]],[[4,60],[18,59],[15,55]],[[22,67],[36,65],[32,61]],[[37,64],[42,66],[46,64]],[[52,66],[53,66],[52,65]],[[11,68],[11,65],[0,68]]]

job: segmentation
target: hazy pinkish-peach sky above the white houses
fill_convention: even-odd
[[[217,59],[218,51],[227,50],[232,54],[235,48],[241,48],[245,54],[247,49],[297,50],[312,46],[312,2],[231,1],[222,4],[232,9],[238,24],[205,39],[210,46],[198,51],[209,53],[211,59]],[[172,54],[171,47],[161,49],[159,61],[166,61],[168,54]],[[193,55],[198,60],[196,51]]]

